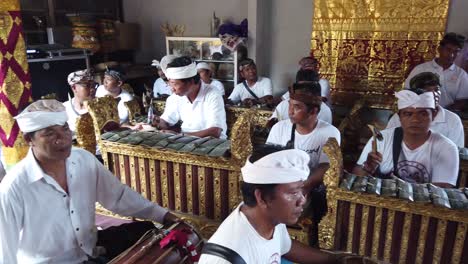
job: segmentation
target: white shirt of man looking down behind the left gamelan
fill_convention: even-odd
[[[193,103],[187,96],[169,96],[161,118],[171,126],[182,120],[182,132],[190,133],[219,127],[222,129],[220,138],[226,138],[226,110],[223,98],[211,85],[200,83],[200,91]]]

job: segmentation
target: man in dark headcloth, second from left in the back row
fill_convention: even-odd
[[[100,85],[98,87],[96,97],[112,96],[113,98],[120,98],[117,105],[120,125],[131,129],[141,129],[141,124],[137,124],[135,126],[130,125],[130,120],[128,120],[128,109],[125,107],[124,103],[133,100],[133,95],[122,89],[123,84],[124,77],[122,73],[116,70],[107,69],[104,73],[104,85]]]

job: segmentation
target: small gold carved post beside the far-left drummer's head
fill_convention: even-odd
[[[96,153],[96,136],[94,135],[93,118],[89,113],[82,114],[76,119],[76,141],[78,147]]]

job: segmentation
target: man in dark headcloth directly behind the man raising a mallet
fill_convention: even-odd
[[[452,140],[459,148],[465,147],[465,134],[460,117],[440,106],[440,83],[439,76],[432,72],[422,72],[410,81],[410,90],[418,94],[433,92],[435,98],[434,121],[431,123],[431,131],[440,133]],[[387,128],[401,126],[400,117],[394,114],[388,121]]]

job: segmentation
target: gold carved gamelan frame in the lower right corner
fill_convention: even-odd
[[[330,170],[324,178],[328,213],[319,224],[320,247],[390,263],[468,259],[467,211],[340,189],[340,147],[333,140],[324,151]]]

